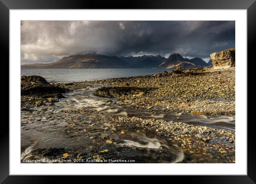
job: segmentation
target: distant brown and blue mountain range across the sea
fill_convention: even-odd
[[[209,66],[199,57],[183,58],[178,53],[168,58],[158,56],[118,57],[99,54],[73,55],[47,64],[21,65],[21,68],[200,68]]]

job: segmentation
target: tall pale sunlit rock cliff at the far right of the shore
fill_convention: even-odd
[[[235,48],[211,53],[213,69],[222,69],[235,66]]]

